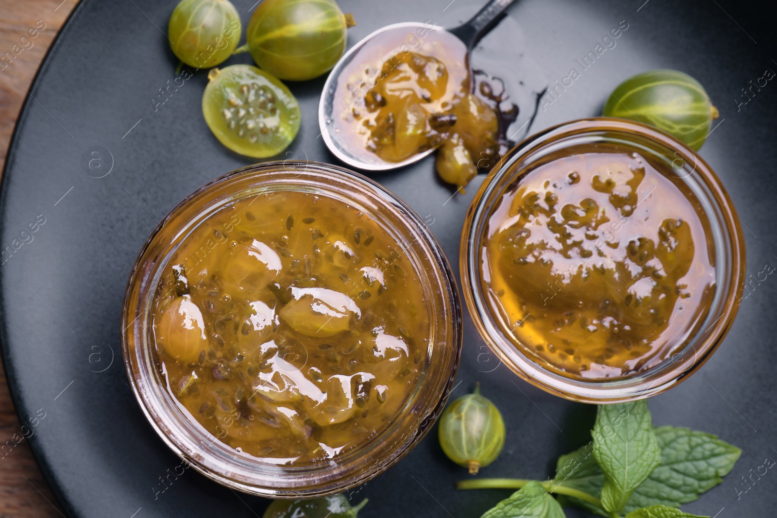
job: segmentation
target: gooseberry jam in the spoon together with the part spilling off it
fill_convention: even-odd
[[[364,163],[401,163],[440,148],[437,172],[463,188],[481,165],[496,162],[499,122],[471,93],[465,44],[434,29],[389,26],[355,47],[335,86],[333,128]]]

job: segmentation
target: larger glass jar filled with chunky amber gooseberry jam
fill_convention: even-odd
[[[183,200],[135,262],[127,373],[193,468],[273,498],[333,495],[399,461],[461,351],[448,262],[423,221],[316,162],[232,172]]]

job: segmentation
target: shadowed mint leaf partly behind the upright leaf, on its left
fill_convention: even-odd
[[[594,443],[587,443],[571,454],[559,457],[556,463],[556,478],[550,483],[578,489],[599,498],[601,486],[605,485],[605,475],[602,475],[601,469],[594,460]],[[607,516],[597,506],[585,500],[567,495],[557,495],[556,499],[562,507],[579,507],[592,514]]]

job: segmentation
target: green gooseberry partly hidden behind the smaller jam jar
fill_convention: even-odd
[[[651,70],[618,85],[602,115],[657,127],[699,151],[719,113],[702,85],[690,75]]]

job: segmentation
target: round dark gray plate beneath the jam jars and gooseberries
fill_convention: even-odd
[[[253,2],[235,2],[243,23]],[[350,31],[354,43],[388,23],[430,20],[454,26],[478,3],[342,0],[340,5],[359,23]],[[174,4],[85,0],[78,5],[40,68],[2,179],[5,368],[19,418],[36,424],[28,429],[34,433],[33,452],[71,516],[257,516],[267,505],[193,470],[177,478],[169,475],[181,472],[180,461],[143,417],[120,358],[124,286],[145,238],[186,194],[249,163],[221,147],[205,126],[200,113],[204,73],[177,90],[170,88],[162,104],[159,89],[176,77],[176,61],[162,32]],[[521,98],[531,85],[560,80],[571,68],[581,71],[576,60],[625,20],[628,29],[615,47],[572,86],[559,89],[557,100],[540,109],[533,130],[597,115],[608,89],[650,68],[687,71],[720,108],[719,125],[702,156],[739,210],[751,293],[713,359],[680,387],[650,400],[657,425],[715,433],[744,450],[723,484],[685,506],[693,513],[720,513],[720,518],[774,516],[777,508],[777,474],[752,475],[766,457],[777,457],[772,364],[777,275],[765,273],[765,265],[777,265],[777,84],[769,81],[760,91],[748,91],[747,104],[742,91],[766,69],[777,70],[772,61],[777,53],[768,41],[773,32],[766,25],[768,16],[753,5],[747,11],[744,7],[724,0],[526,0],[510,9],[513,19],[497,29],[501,36],[483,40],[486,47],[503,50],[480,50],[472,60],[497,75],[524,75],[528,90],[516,87],[515,92]],[[539,72],[531,71],[521,54],[531,56]],[[244,54],[230,63],[249,59]],[[280,158],[334,162],[317,137],[323,81],[290,85],[303,123],[289,154]],[[524,110],[519,123],[527,114]],[[93,158],[97,161],[90,167]],[[433,169],[429,158],[375,178],[427,219],[458,271],[462,221],[479,180],[466,196],[451,196]],[[22,234],[36,219],[45,222],[34,233]],[[507,447],[482,476],[552,475],[556,457],[587,440],[594,407],[566,402],[520,381],[498,367],[469,318],[465,328],[461,383],[454,397],[480,381],[507,421]],[[454,482],[469,475],[444,457],[434,432],[353,495],[370,499],[360,516],[479,516],[509,494],[457,492]],[[752,476],[749,486],[743,476]],[[575,513],[569,516],[583,516]]]

